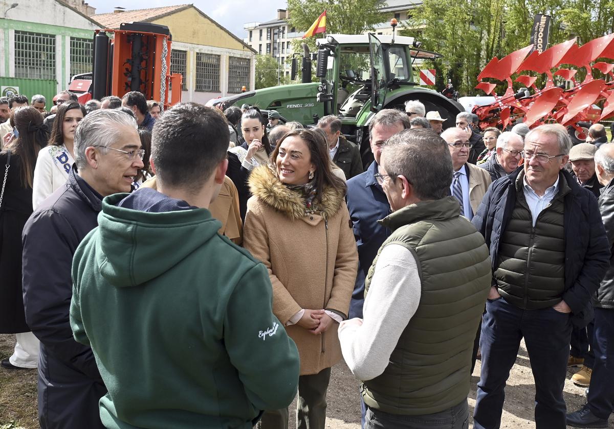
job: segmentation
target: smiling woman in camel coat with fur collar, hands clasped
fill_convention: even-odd
[[[297,427],[324,429],[330,368],[341,360],[338,324],[348,316],[358,266],[344,196],[324,137],[284,135],[254,169],[243,242],[268,270],[273,313],[298,347]],[[261,427],[284,428],[288,410],[267,411]]]

